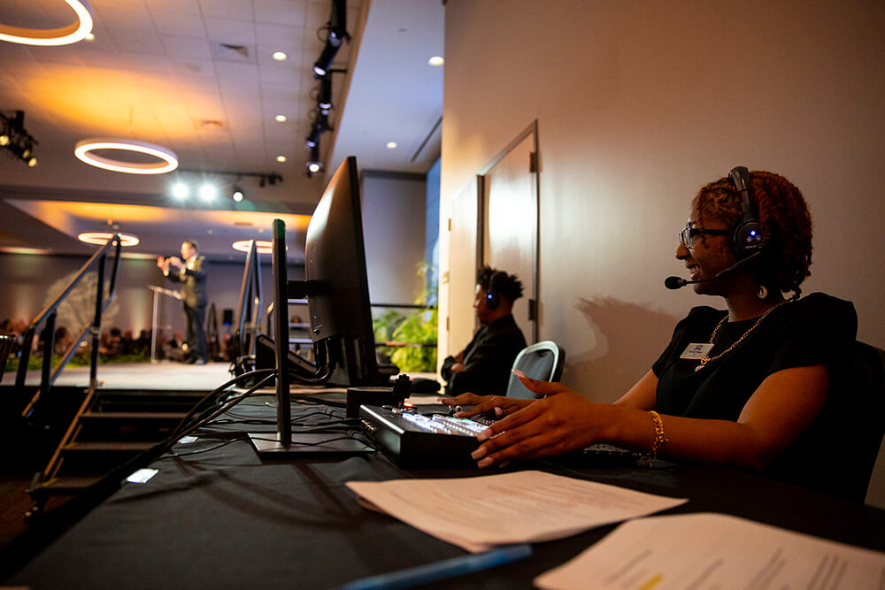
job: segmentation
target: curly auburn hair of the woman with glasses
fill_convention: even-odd
[[[697,193],[691,207],[697,223],[717,219],[728,226],[741,223],[741,194],[727,178],[711,182]],[[811,275],[812,216],[802,192],[773,172],[750,172],[750,207],[765,236],[764,264],[753,267],[760,282],[783,293],[802,290],[799,285]]]

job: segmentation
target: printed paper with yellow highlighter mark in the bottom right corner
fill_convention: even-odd
[[[570,562],[535,578],[535,586],[545,590],[883,585],[885,553],[711,513],[624,523]]]

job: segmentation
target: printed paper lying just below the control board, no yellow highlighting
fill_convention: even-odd
[[[347,486],[364,505],[473,552],[561,539],[688,502],[543,471]]]

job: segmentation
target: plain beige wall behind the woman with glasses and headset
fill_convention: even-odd
[[[804,292],[853,301],[885,347],[885,4],[449,0],[445,29],[441,209],[538,119],[540,329],[568,385],[616,399],[689,307],[721,304],[663,280],[691,198],[735,165],[803,190]]]

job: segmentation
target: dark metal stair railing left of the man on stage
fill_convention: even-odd
[[[107,263],[108,255],[113,250],[113,264],[111,268],[111,276],[108,280],[108,293],[107,297],[104,297],[104,267]],[[75,352],[80,349],[80,344],[83,340],[86,339],[87,335],[92,335],[92,349],[91,355],[89,359],[89,394],[94,394],[96,390],[97,384],[97,372],[98,372],[98,344],[99,344],[99,336],[101,333],[101,325],[102,325],[102,314],[104,310],[107,309],[107,306],[111,303],[113,299],[114,289],[117,286],[117,270],[119,268],[119,253],[120,253],[120,236],[119,234],[114,234],[110,240],[108,240],[104,246],[99,249],[95,254],[89,258],[89,261],[86,264],[83,264],[80,272],[77,272],[77,275],[68,283],[67,287],[50,303],[46,306],[46,309],[40,312],[40,315],[35,318],[34,322],[31,324],[29,328],[27,328],[27,332],[25,333],[25,339],[22,343],[21,347],[21,355],[19,356],[19,370],[15,376],[15,387],[20,389],[25,387],[25,378],[27,376],[27,364],[30,360],[31,349],[34,344],[34,339],[38,331],[42,329],[42,341],[43,341],[43,358],[42,358],[42,370],[40,373],[40,387],[37,389],[34,397],[31,399],[31,402],[27,404],[27,407],[24,411],[22,411],[22,415],[25,418],[31,418],[35,410],[40,410],[40,408],[45,407],[45,404],[50,402],[51,395],[50,390],[52,384],[58,379],[58,375],[61,374],[65,369],[65,365],[73,358]],[[97,273],[96,280],[96,306],[95,306],[95,317],[92,321],[84,326],[81,330],[80,335],[73,341],[73,345],[67,349],[65,352],[65,356],[61,358],[56,367],[55,372],[52,372],[52,356],[55,351],[55,331],[56,331],[56,318],[58,316],[58,306],[65,301],[68,295],[71,295],[73,289],[80,284],[81,280],[93,270]]]

